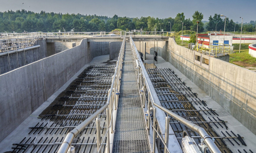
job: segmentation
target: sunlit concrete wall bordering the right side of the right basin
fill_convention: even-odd
[[[194,60],[197,52],[178,46],[173,39],[169,39],[164,52],[160,54],[162,58],[256,134],[255,72],[212,57],[209,66],[204,67]]]

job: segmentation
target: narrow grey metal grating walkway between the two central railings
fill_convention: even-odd
[[[113,152],[150,152],[129,41],[125,46]]]

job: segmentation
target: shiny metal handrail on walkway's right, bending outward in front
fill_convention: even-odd
[[[184,124],[185,126],[190,128],[191,130],[197,132],[204,139],[205,144],[208,146],[208,148],[210,149],[211,152],[213,152],[213,153],[221,153],[220,149],[218,149],[218,147],[216,146],[216,144],[214,143],[212,138],[208,135],[208,133],[204,130],[203,127],[200,127],[200,126],[198,126],[198,125],[196,125],[194,123],[191,123],[190,121],[188,121],[185,118],[179,116],[178,114],[176,114],[176,113],[174,113],[174,112],[172,112],[170,110],[167,110],[166,108],[161,106],[160,100],[157,97],[157,94],[156,94],[156,91],[154,89],[154,86],[153,86],[152,82],[150,81],[149,75],[148,75],[148,73],[147,73],[147,71],[146,71],[146,69],[145,69],[145,67],[143,65],[143,62],[142,62],[142,60],[141,60],[141,58],[139,56],[138,50],[137,50],[137,48],[135,46],[135,43],[132,40],[132,37],[130,37],[130,43],[131,43],[131,48],[132,48],[132,50],[134,52],[134,59],[136,59],[138,65],[139,65],[138,72],[141,72],[142,76],[144,76],[144,85],[145,85],[145,87],[147,87],[147,91],[148,91],[148,95],[149,95],[148,112],[150,112],[150,101],[151,101],[152,105],[158,107],[160,110],[162,110],[162,111],[166,112],[167,114],[169,114],[169,116],[175,118],[176,120],[178,120],[179,122],[181,122],[182,124]],[[150,120],[150,119],[148,119],[148,120]],[[150,124],[150,122],[148,122],[148,125],[149,124]]]

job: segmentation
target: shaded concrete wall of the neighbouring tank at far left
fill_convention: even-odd
[[[38,40],[35,43],[36,45],[40,45],[39,48],[25,50],[24,52],[18,52],[9,54],[10,59],[10,71],[13,69],[25,66],[34,61],[38,61],[40,59],[44,59],[47,57],[46,53],[46,40]],[[9,72],[9,59],[8,55],[1,56],[0,53],[0,74]]]

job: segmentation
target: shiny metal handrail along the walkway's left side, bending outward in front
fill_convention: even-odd
[[[111,118],[113,118],[113,108],[117,106],[117,103],[115,103],[115,100],[113,98],[113,91],[115,91],[117,88],[120,87],[119,84],[119,76],[120,76],[120,70],[121,67],[123,66],[122,62],[123,62],[123,53],[124,53],[124,43],[125,43],[125,39],[123,40],[123,43],[121,45],[121,49],[119,52],[119,57],[118,57],[118,61],[117,61],[117,67],[115,67],[115,73],[114,73],[114,77],[112,80],[112,84],[111,84],[111,88],[109,89],[109,94],[108,94],[108,99],[107,99],[107,103],[106,105],[102,106],[99,110],[97,110],[95,113],[92,114],[92,116],[90,116],[89,118],[87,118],[86,120],[84,120],[80,125],[78,125],[77,127],[75,127],[75,129],[73,129],[72,131],[70,131],[68,133],[68,135],[66,135],[62,145],[60,146],[58,153],[63,153],[63,152],[68,152],[68,149],[71,147],[71,142],[73,141],[73,139],[78,135],[78,133],[80,133],[90,122],[92,122],[92,120],[94,120],[102,111],[104,111],[105,109],[107,109],[107,107],[109,107],[109,112],[110,112],[110,116]],[[116,77],[117,76],[117,77]],[[114,90],[113,90],[114,88]],[[107,116],[109,116],[109,114],[106,114]],[[112,120],[112,119],[111,119]],[[113,120],[112,120],[113,121]],[[110,124],[111,126],[111,130],[113,130],[113,124]],[[109,127],[108,131],[109,131]],[[100,131],[99,131],[100,132]],[[100,141],[97,141],[98,143]],[[109,142],[107,143],[109,144]],[[109,146],[107,146],[109,148]],[[108,149],[109,150],[109,149]]]

